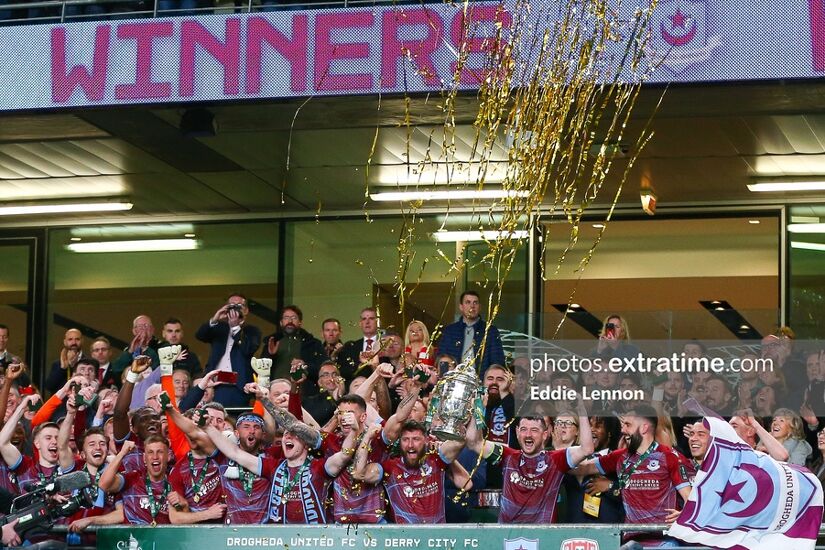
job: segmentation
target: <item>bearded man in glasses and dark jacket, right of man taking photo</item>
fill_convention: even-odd
[[[270,379],[289,378],[293,368],[303,369],[311,384],[309,393],[318,392],[318,368],[324,360],[323,344],[304,330],[304,313],[295,305],[281,310],[278,330],[264,339],[261,358],[272,359]],[[306,385],[305,385],[306,387]]]

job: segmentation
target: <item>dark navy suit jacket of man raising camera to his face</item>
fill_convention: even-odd
[[[211,345],[209,361],[206,363],[204,374],[214,370],[221,357],[223,357],[226,352],[228,336],[229,324],[224,321],[216,325],[210,325],[207,321],[195,333],[198,340]],[[244,393],[243,387],[252,382],[250,359],[261,345],[261,330],[258,327],[244,323],[241,325],[241,330],[233,338],[235,343],[229,352],[229,362],[232,364],[232,370],[238,373],[238,383],[234,386],[229,384],[217,386],[215,388],[215,401],[226,407],[242,407],[249,404],[250,396]]]

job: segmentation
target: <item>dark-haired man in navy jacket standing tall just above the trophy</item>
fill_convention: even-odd
[[[438,342],[438,355],[447,354],[459,358],[459,362],[473,362],[476,371],[484,376],[490,365],[504,364],[504,348],[495,325],[481,318],[478,293],[466,290],[459,298],[461,317],[444,327]]]

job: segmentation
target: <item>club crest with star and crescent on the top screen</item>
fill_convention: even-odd
[[[656,8],[654,56],[673,73],[710,58],[721,43],[708,33],[707,0],[665,0]]]

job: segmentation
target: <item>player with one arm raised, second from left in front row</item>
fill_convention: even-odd
[[[77,442],[80,449],[80,457],[75,458],[72,449],[69,447],[69,438],[72,432],[72,425],[77,416],[75,406],[75,395],[70,394],[66,401],[66,418],[60,425],[57,434],[57,448],[60,457],[60,470],[62,472],[72,469],[83,470],[92,479],[93,488],[97,489],[97,498],[91,508],[81,508],[69,518],[69,529],[73,532],[80,532],[89,525],[117,525],[123,523],[123,505],[112,495],[107,495],[98,486],[103,469],[106,466],[107,449],[109,439],[103,433],[103,428],[89,428]],[[94,536],[84,537],[85,544],[94,544]]]

